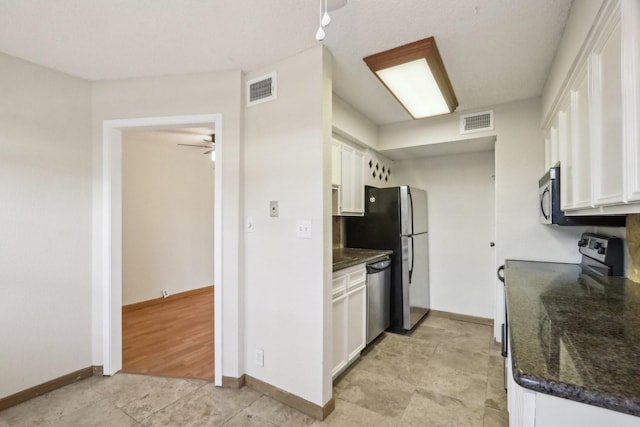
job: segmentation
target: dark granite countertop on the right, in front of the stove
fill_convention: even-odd
[[[516,383],[640,416],[640,284],[512,260],[505,281]]]

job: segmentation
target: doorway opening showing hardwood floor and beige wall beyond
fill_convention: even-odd
[[[122,370],[214,379],[213,127],[126,130]]]

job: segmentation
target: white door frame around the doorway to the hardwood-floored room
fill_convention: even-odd
[[[214,126],[214,383],[222,385],[222,114],[144,117],[102,122],[102,362],[103,374],[122,369],[122,132],[167,126]]]

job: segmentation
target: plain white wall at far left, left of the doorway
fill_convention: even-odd
[[[91,366],[90,88],[0,53],[0,398]]]

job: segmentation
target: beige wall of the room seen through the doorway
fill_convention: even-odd
[[[124,132],[122,304],[213,284],[214,163],[180,133]]]

